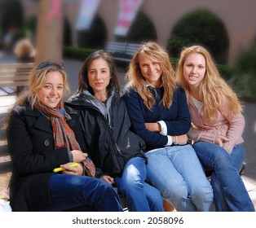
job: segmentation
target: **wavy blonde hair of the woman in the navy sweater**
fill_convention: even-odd
[[[149,110],[152,109],[152,106],[155,103],[155,98],[150,90],[148,90],[148,81],[143,77],[140,71],[139,55],[145,55],[151,61],[157,62],[161,65],[161,82],[164,88],[163,99],[161,102],[164,107],[170,108],[175,89],[175,72],[174,68],[170,64],[168,53],[156,42],[143,43],[131,59],[128,72],[126,73],[126,78],[128,80],[126,89],[128,91],[130,88],[135,89],[143,99],[144,105],[148,107]]]

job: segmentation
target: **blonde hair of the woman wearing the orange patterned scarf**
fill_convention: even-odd
[[[39,66],[43,64],[44,63],[39,64]],[[33,70],[29,74],[29,87],[27,88],[27,90],[24,90],[24,92],[20,94],[13,107],[17,105],[22,105],[26,101],[28,101],[33,107],[34,103],[38,102],[38,90],[41,89],[44,85],[44,82],[46,81],[46,73],[48,72],[57,71],[61,73],[64,81],[64,95],[69,94],[70,89],[66,72],[64,72],[64,70],[59,67],[58,64],[51,62],[46,62],[46,64],[48,65],[46,65],[46,67],[44,68],[38,68],[39,66],[33,68]]]

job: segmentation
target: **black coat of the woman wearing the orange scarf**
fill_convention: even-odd
[[[76,138],[82,137],[77,112],[64,107]],[[83,142],[82,140],[79,140]],[[29,103],[11,111],[7,142],[13,165],[10,204],[13,211],[37,211],[51,204],[48,182],[52,170],[69,162],[67,148],[54,148],[51,122]]]

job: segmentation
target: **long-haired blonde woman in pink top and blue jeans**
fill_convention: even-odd
[[[176,75],[188,96],[192,127],[188,138],[206,170],[213,170],[216,211],[254,211],[239,175],[245,158],[241,103],[220,77],[208,50],[190,46],[181,52]]]

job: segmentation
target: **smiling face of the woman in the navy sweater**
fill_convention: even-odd
[[[157,61],[152,61],[146,55],[139,54],[139,68],[143,77],[147,78],[148,82],[155,87],[161,85],[162,68]]]

